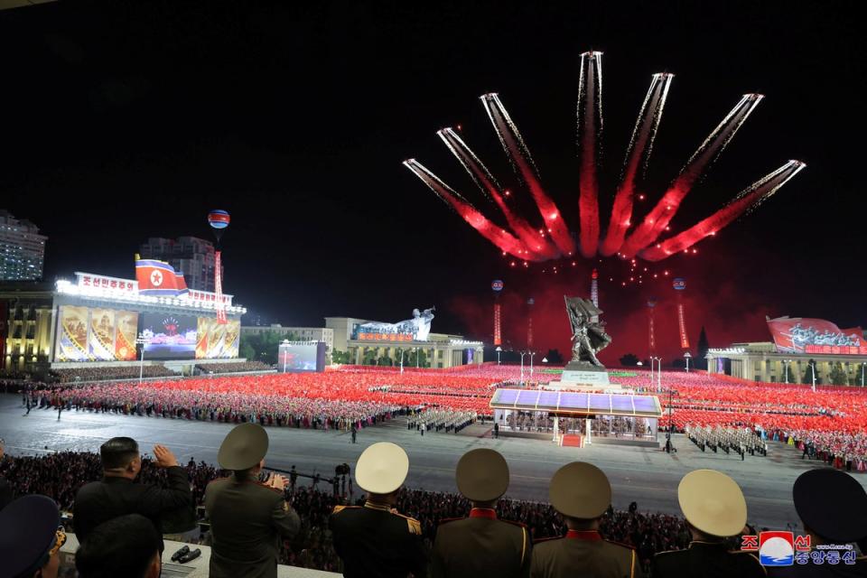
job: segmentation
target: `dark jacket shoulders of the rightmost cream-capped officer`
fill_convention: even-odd
[[[761,578],[767,575],[759,560],[744,551],[730,552],[725,544],[694,541],[686,550],[660,552],[653,558],[653,578]]]

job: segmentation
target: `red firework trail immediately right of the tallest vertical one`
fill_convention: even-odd
[[[657,136],[659,122],[662,120],[662,110],[666,106],[668,89],[674,74],[660,72],[653,75],[648,94],[639,111],[639,118],[632,130],[626,161],[620,179],[620,187],[614,196],[614,206],[611,209],[611,222],[608,233],[602,241],[599,252],[602,256],[611,256],[620,251],[626,231],[632,225],[632,204],[635,198],[636,180],[639,167],[647,170],[650,153],[653,151],[653,141]]]

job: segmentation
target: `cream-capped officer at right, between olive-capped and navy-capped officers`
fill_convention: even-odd
[[[738,536],[747,523],[747,502],[735,480],[721,471],[690,471],[680,480],[677,500],[693,541],[686,550],[657,554],[653,578],[766,575],[756,557],[730,551],[726,541]]]

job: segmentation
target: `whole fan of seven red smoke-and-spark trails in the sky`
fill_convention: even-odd
[[[732,111],[722,119],[704,139],[668,186],[653,209],[633,228],[633,204],[638,197],[645,199],[645,194],[637,194],[636,182],[639,172],[647,168],[648,159],[653,149],[657,128],[662,119],[668,89],[674,75],[658,73],[648,89],[648,94],[639,111],[639,117],[632,132],[632,138],[627,148],[620,185],[614,191],[614,204],[611,210],[608,228],[602,236],[599,214],[599,182],[596,176],[598,165],[597,144],[601,138],[602,108],[602,53],[598,51],[584,52],[581,56],[581,78],[578,90],[578,127],[579,127],[579,234],[576,245],[572,233],[557,208],[554,200],[545,191],[539,176],[536,163],[530,155],[527,144],[517,126],[508,116],[496,93],[480,97],[491,124],[494,126],[499,142],[508,155],[512,168],[527,186],[530,196],[536,203],[536,208],[542,218],[542,227],[537,228],[529,219],[511,210],[506,199],[511,191],[503,190],[496,178],[489,172],[470,147],[464,143],[452,128],[444,128],[437,134],[443,143],[458,159],[464,169],[470,173],[472,180],[480,190],[499,207],[507,222],[506,227],[500,227],[488,219],[480,210],[472,206],[460,192],[455,191],[439,179],[433,172],[415,159],[404,162],[406,167],[415,173],[440,199],[448,203],[453,210],[499,248],[504,255],[517,257],[527,262],[541,262],[561,257],[573,257],[580,251],[585,258],[597,254],[601,256],[616,255],[621,259],[634,260],[639,257],[647,261],[660,261],[678,252],[688,252],[691,247],[706,237],[715,235],[741,215],[757,208],[761,202],[769,199],[774,192],[789,179],[801,171],[806,164],[800,161],[788,161],[778,169],[754,182],[741,191],[730,203],[717,210],[710,217],[701,220],[695,226],[659,240],[671,231],[669,223],[677,213],[681,202],[692,191],[695,183],[701,179],[704,171],[716,160],[725,146],[746,121],[750,113],[763,98],[760,94],[746,94]],[[458,130],[460,130],[458,126]],[[695,252],[695,249],[692,249]],[[511,266],[516,263],[511,262]]]

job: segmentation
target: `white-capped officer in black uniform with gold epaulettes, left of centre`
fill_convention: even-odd
[[[395,443],[374,443],[359,456],[355,480],[368,499],[363,507],[336,506],[331,514],[334,549],[346,578],[424,577],[422,526],[394,509],[408,471],[409,458]]]

